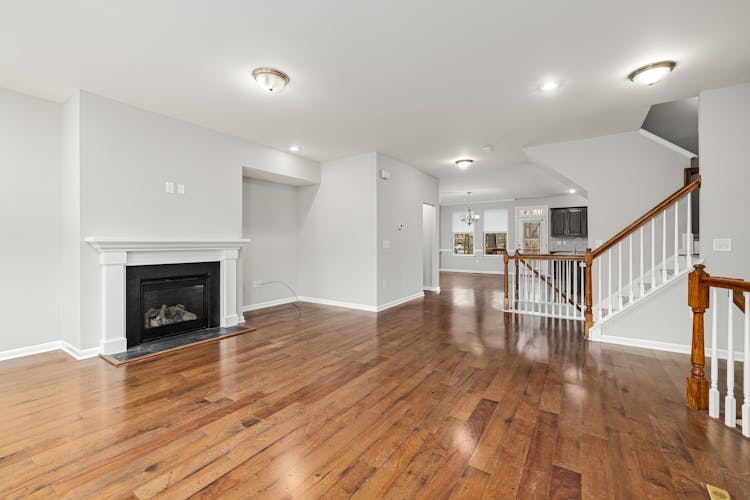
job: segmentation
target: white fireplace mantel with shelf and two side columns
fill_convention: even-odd
[[[223,327],[239,323],[237,314],[237,260],[250,240],[122,238],[84,239],[99,252],[101,266],[102,354],[127,349],[125,338],[125,272],[127,266],[153,264],[220,263],[219,320]]]

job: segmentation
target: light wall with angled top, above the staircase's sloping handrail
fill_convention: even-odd
[[[589,244],[606,241],[682,186],[685,156],[638,131],[524,149],[588,194]]]

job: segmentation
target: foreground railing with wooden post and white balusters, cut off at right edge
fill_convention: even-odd
[[[719,290],[725,293],[720,294]],[[735,307],[744,319],[742,377],[742,434],[750,437],[750,282],[741,279],[714,278],[697,264],[688,278],[688,304],[693,310],[693,341],[690,354],[691,369],[687,377],[687,404],[695,410],[708,410],[711,418],[719,418],[721,398],[719,393],[719,297],[726,296],[726,395],[724,397],[724,424],[737,425],[737,400],[735,390],[734,322]],[[740,298],[741,297],[741,298]],[[705,379],[705,347],[703,317],[713,304],[711,315],[711,384]]]

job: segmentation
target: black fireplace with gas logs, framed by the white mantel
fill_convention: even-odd
[[[128,266],[127,347],[219,326],[219,262]]]

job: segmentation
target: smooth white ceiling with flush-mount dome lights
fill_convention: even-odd
[[[747,0],[0,0],[0,86],[82,88],[316,160],[380,151],[446,178],[470,156],[462,186],[506,169],[520,179],[494,198],[559,194],[523,146],[636,130],[651,104],[750,80],[749,25]],[[626,79],[661,59],[666,81]],[[251,80],[266,65],[284,93]]]

